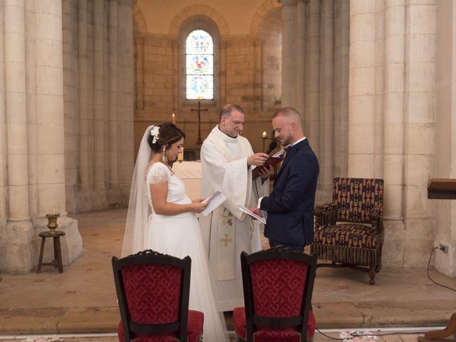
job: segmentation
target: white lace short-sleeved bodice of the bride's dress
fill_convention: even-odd
[[[152,197],[150,194],[150,185],[155,183],[168,183],[167,202],[186,204],[190,199],[185,194],[185,185],[182,180],[171,172],[170,168],[162,162],[155,162],[150,165],[146,172],[147,197],[150,207],[152,207]],[[153,207],[152,207],[153,209]],[[153,210],[152,210],[153,211]]]

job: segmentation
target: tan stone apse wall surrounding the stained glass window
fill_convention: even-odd
[[[187,134],[185,147],[197,147],[197,101],[185,100],[185,38],[192,29],[203,28],[214,38],[214,100],[202,101],[201,138],[218,122],[226,103],[246,110],[244,136],[254,150],[263,148],[261,133],[271,132],[271,116],[281,101],[281,11],[276,1],[249,4],[251,27],[229,34],[227,19],[210,6],[174,9],[169,33],[148,29],[147,6],[133,6],[135,27],[135,150],[147,125],[171,121]],[[155,19],[150,19],[155,21]],[[161,27],[160,27],[161,28]]]

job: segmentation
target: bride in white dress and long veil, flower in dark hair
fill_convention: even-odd
[[[152,125],[142,137],[133,171],[122,257],[153,249],[174,257],[192,258],[189,308],[204,314],[204,341],[226,341],[218,313],[207,257],[195,213],[207,203],[191,201],[182,180],[167,165],[182,152],[185,133],[172,123]]]

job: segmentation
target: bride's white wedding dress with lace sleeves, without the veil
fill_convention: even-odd
[[[192,202],[185,195],[182,180],[174,175],[169,167],[161,162],[155,162],[148,168],[146,175],[147,195],[151,207],[150,185],[157,182],[168,183],[167,202],[176,204]],[[185,212],[167,216],[155,214],[152,208],[152,215],[145,232],[145,248],[180,259],[187,255],[192,258],[189,309],[202,311],[204,314],[204,341],[227,341],[224,337],[225,325],[222,323],[222,313],[217,312],[216,309],[207,257],[204,254],[202,235],[195,213]]]

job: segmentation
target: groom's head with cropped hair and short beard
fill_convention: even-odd
[[[272,117],[274,138],[279,140],[283,146],[304,138],[301,120],[301,114],[296,109],[291,107],[279,109]]]

